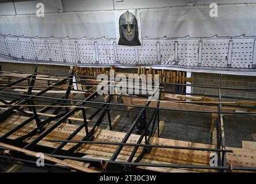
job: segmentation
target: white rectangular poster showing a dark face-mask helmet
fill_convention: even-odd
[[[139,10],[122,10],[115,12],[116,38],[118,45],[141,46]]]

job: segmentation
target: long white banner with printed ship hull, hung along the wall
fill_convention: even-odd
[[[1,16],[0,55],[14,62],[256,71],[256,5],[217,8],[215,17],[206,5]],[[120,33],[132,35],[132,45],[118,44]]]

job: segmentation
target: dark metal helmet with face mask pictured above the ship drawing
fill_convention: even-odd
[[[118,45],[141,45],[139,41],[138,22],[136,17],[126,11],[119,18],[120,39]]]

